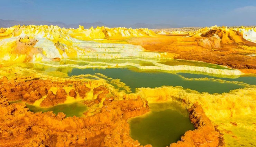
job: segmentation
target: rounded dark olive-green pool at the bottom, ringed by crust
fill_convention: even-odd
[[[194,130],[188,117],[171,109],[152,111],[143,116],[131,118],[130,135],[141,145],[165,147],[181,139],[187,130]]]

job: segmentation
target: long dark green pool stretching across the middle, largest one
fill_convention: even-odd
[[[73,68],[68,76],[101,73],[113,79],[120,79],[135,92],[135,88],[141,87],[161,87],[161,86],[182,86],[198,92],[223,93],[233,89],[244,88],[244,86],[212,80],[186,80],[177,74],[166,72],[137,72],[127,68],[109,68],[109,69],[78,69]]]

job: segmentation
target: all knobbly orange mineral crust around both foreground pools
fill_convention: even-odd
[[[87,92],[81,93],[81,90],[80,92],[74,90],[88,84],[81,81],[15,81],[4,77],[1,83],[0,146],[140,146],[137,140],[130,137],[128,124],[129,118],[143,115],[150,110],[147,101],[140,96],[127,95],[123,99],[115,100],[108,96],[109,90],[105,86],[88,88]],[[65,87],[71,84],[75,88],[69,92],[65,91]],[[54,94],[49,90],[52,87],[60,88],[57,88]],[[40,105],[53,106],[63,103],[67,93],[72,96],[77,93],[77,96],[81,94],[83,97],[89,91],[92,91],[95,99],[85,100],[84,104],[89,104],[91,109],[99,103],[102,107],[99,107],[100,111],[95,111],[93,115],[85,112],[84,117],[65,117],[62,112],[55,115],[52,111],[34,113],[29,111],[22,102],[9,103],[9,99],[21,99],[33,103],[47,95]],[[218,146],[221,144],[221,134],[205,116],[201,106],[195,104],[189,112],[191,122],[196,129],[187,131],[181,141],[171,146]]]

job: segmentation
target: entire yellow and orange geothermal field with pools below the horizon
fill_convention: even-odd
[[[256,28],[1,28],[0,146],[254,147]]]

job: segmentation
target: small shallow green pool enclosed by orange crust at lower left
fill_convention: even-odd
[[[42,112],[53,111],[53,113],[57,115],[58,112],[63,112],[66,115],[66,117],[73,117],[73,116],[82,117],[83,113],[88,109],[88,107],[82,104],[82,102],[74,102],[71,104],[60,104],[60,105],[56,105],[48,108],[33,106],[30,104],[26,104],[26,105],[30,111],[35,113],[41,112],[41,111]]]

